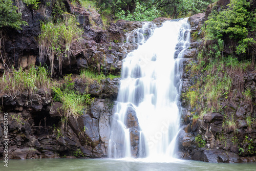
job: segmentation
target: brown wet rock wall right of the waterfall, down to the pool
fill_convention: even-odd
[[[229,1],[218,1],[214,8],[227,5]],[[212,5],[213,6],[213,5]],[[212,7],[211,7],[212,8]],[[209,11],[209,9],[208,9]],[[207,11],[206,11],[207,13]],[[191,33],[200,32],[200,25],[204,22],[204,14],[196,14],[189,19]],[[195,84],[205,77],[200,73],[193,73],[189,63],[197,63],[197,53],[188,55],[189,52],[204,46],[204,39],[191,42],[190,49],[185,55],[190,56],[183,63],[185,69],[182,75],[181,93],[194,91]],[[200,42],[201,41],[201,42]],[[194,56],[195,55],[195,56]],[[206,113],[201,118],[193,119],[193,115],[200,115],[197,108],[190,105],[190,100],[183,98],[182,103],[182,131],[178,135],[179,156],[183,159],[199,160],[212,163],[238,163],[254,161],[255,153],[249,154],[248,147],[256,145],[256,131],[254,124],[248,124],[249,118],[255,119],[255,105],[249,104],[243,94],[237,93],[239,87],[248,88],[255,92],[256,73],[243,72],[236,75],[236,81],[232,82],[232,90],[229,96],[232,100],[223,97],[219,103],[222,106],[218,112]],[[199,85],[202,89],[204,84]],[[207,100],[203,97],[201,100]],[[199,106],[203,106],[200,100]],[[208,104],[207,108],[210,108]],[[247,138],[246,138],[247,137]],[[246,140],[247,139],[247,140]],[[248,140],[251,142],[248,143]],[[199,144],[201,142],[201,144]],[[244,150],[244,152],[242,152]]]

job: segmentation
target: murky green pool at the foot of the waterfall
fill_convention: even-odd
[[[256,163],[204,163],[198,161],[176,160],[172,162],[143,162],[113,159],[28,159],[9,160],[8,167],[1,161],[0,170],[256,170]]]

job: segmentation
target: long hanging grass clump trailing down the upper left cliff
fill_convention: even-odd
[[[62,59],[68,58],[72,52],[71,45],[81,38],[82,29],[77,25],[75,16],[66,15],[61,22],[42,23],[39,39],[40,59],[48,57],[51,64],[51,76],[54,74],[54,60],[58,60],[59,73],[62,74]]]

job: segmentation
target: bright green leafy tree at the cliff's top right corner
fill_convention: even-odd
[[[214,10],[205,22],[206,32],[209,39],[216,39],[221,42],[220,51],[223,50],[225,37],[238,42],[236,53],[245,53],[248,46],[255,46],[256,18],[255,10],[251,10],[251,1],[231,0],[227,9],[218,12]],[[233,47],[230,47],[233,48]],[[218,50],[217,50],[218,51]],[[218,55],[220,56],[220,55]]]

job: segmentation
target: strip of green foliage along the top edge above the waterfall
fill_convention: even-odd
[[[125,0],[97,1],[98,6],[109,9],[120,19],[152,20],[159,16],[178,18],[199,12],[215,0]]]

